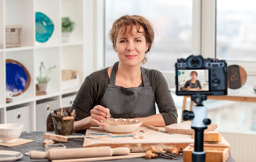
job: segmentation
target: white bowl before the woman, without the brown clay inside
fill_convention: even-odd
[[[130,121],[134,121],[132,124],[127,124],[126,120],[127,119],[115,119],[116,121],[118,120],[123,120],[123,123],[119,124],[105,124],[105,126],[102,126],[102,128],[105,131],[111,132],[111,133],[129,133],[135,131],[139,126],[142,124],[141,120],[133,120],[129,119]]]

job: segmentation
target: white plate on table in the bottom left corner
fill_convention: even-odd
[[[22,158],[23,154],[18,151],[0,151],[0,162],[14,162]]]

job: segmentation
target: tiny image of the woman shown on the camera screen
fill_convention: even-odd
[[[199,80],[196,80],[198,73],[196,71],[190,72],[191,80],[187,80],[184,88],[187,91],[196,91],[202,89],[201,83]]]

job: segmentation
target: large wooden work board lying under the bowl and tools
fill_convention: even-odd
[[[158,127],[159,129],[165,131],[164,127]],[[145,130],[145,133],[140,130]],[[86,136],[91,136],[90,133],[106,133],[101,127],[91,127],[87,129]],[[118,138],[109,138],[109,137],[101,137],[98,138],[85,138],[83,142],[83,147],[97,147],[97,146],[110,146],[111,148],[116,147],[129,147],[131,152],[145,152],[149,146],[161,147],[164,150],[171,149],[172,147],[176,147],[182,151],[189,144],[194,143],[194,139],[191,138],[191,135],[186,134],[167,134],[159,131],[154,131],[151,129],[147,129],[146,127],[139,127],[136,131],[131,133],[112,133],[112,135],[145,135],[145,138],[135,139],[134,137],[118,137]],[[208,144],[222,144],[229,146],[229,143],[222,138],[222,142],[204,142]]]

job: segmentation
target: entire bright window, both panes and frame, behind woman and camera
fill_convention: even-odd
[[[177,58],[187,58],[193,53],[204,58],[216,55],[228,65],[244,67],[246,84],[234,90],[243,94],[244,89],[252,90],[256,85],[255,3],[251,0],[105,0],[104,67],[118,60],[108,38],[112,23],[125,14],[138,14],[148,18],[155,27],[155,44],[144,67],[162,71],[170,88],[175,86],[173,71]],[[183,96],[172,95],[180,122]],[[255,103],[207,100],[204,105],[208,108],[207,117],[212,124],[218,124],[219,131],[256,131]]]

